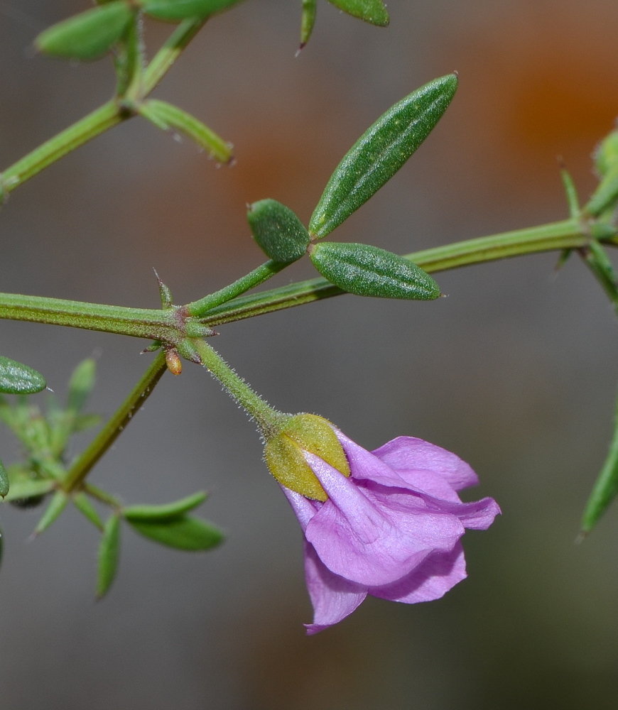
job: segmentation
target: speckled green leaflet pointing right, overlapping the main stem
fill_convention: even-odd
[[[376,246],[325,241],[313,247],[311,261],[331,283],[358,296],[431,300],[440,295],[422,268]]]

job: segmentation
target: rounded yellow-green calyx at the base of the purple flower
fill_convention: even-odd
[[[345,452],[327,420],[313,414],[297,414],[269,439],[264,450],[266,465],[280,484],[306,498],[326,501],[326,491],[305,461],[303,452],[319,456],[344,476],[349,476]]]

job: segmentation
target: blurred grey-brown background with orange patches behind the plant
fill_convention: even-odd
[[[86,0],[0,2],[0,167],[112,94],[109,59],[34,56]],[[428,141],[343,224],[340,241],[406,253],[566,216],[556,156],[585,200],[590,153],[618,115],[610,0],[391,0],[367,26],[325,1],[298,58],[300,0],[249,0],[213,18],[156,96],[235,146],[217,168],[134,119],[45,170],[0,212],[1,290],[158,307],[220,288],[263,257],[245,204],[273,197],[305,222],[335,165],[383,111],[457,70]],[[152,56],[170,32],[146,23]],[[315,275],[297,264],[277,283]],[[618,662],[615,506],[574,545],[607,452],[618,324],[573,258],[542,254],[438,275],[449,297],[343,296],[220,327],[215,346],[271,403],[328,417],[368,449],[415,435],[457,452],[503,515],[465,536],[470,577],[440,601],[367,599],[313,638],[296,519],[254,427],[198,367],[166,375],[93,471],[129,503],[200,488],[228,532],[207,555],[125,530],[119,577],[94,603],[98,535],[68,510],[3,506],[0,706],[24,710],[609,709]],[[0,323],[2,354],[64,395],[99,358],[91,410],[111,414],[145,343]],[[43,400],[42,395],[37,395]],[[78,452],[87,439],[75,442]],[[19,447],[0,435],[6,464]]]

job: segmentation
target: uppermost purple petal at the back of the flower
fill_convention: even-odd
[[[418,485],[417,479],[418,482],[422,480],[422,476],[416,475],[419,472],[438,474],[455,491],[476,486],[479,482],[477,474],[460,457],[423,439],[397,437],[372,454],[413,486]]]

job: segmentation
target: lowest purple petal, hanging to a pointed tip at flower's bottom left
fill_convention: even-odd
[[[367,596],[367,587],[332,574],[306,540],[304,549],[305,579],[313,604],[313,623],[305,627],[313,635],[351,614]]]

